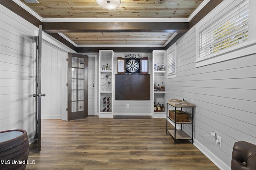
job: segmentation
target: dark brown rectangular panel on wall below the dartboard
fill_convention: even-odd
[[[116,100],[150,100],[150,74],[116,74]]]

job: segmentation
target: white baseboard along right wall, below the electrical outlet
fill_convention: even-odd
[[[223,162],[218,156],[213,154],[210,150],[208,150],[202,143],[198,142],[198,140],[194,139],[194,146],[197,147],[207,158],[209,158],[218,168],[221,170],[231,170],[231,167]]]

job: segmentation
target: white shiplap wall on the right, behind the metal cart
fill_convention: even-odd
[[[195,145],[221,169],[230,169],[236,141],[256,144],[256,54],[196,68],[195,38],[193,27],[178,40],[178,77],[166,80],[166,100],[195,104]],[[184,128],[191,134],[191,125]],[[221,147],[207,136],[211,131],[222,137]]]

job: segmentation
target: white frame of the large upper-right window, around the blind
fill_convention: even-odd
[[[248,40],[244,43],[234,45],[227,49],[218,51],[214,54],[210,54],[208,55],[208,57],[204,57],[202,59],[200,59],[199,57],[199,33],[206,27],[217,21],[219,18],[224,16],[226,13],[234,11],[236,6],[240,4],[242,1],[243,0],[223,1],[196,25],[196,67],[218,63],[230,59],[235,59],[256,52],[255,47],[253,47],[256,44],[256,31],[254,31],[256,30],[256,10],[254,9],[254,7],[256,6],[256,1],[248,0]]]

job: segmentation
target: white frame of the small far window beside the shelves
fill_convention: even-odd
[[[174,72],[169,73],[169,54],[175,52],[174,55]],[[177,77],[177,43],[175,42],[171,47],[167,49],[167,67],[166,67],[166,78],[176,78]]]

